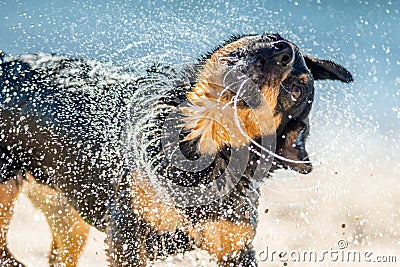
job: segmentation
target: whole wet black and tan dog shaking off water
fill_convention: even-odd
[[[352,76],[278,34],[232,37],[142,76],[2,53],[0,264],[23,266],[6,241],[23,192],[48,220],[51,266],[77,266],[89,225],[107,233],[111,266],[194,248],[220,266],[257,266],[259,186],[277,168],[311,171],[308,117],[323,79]]]

